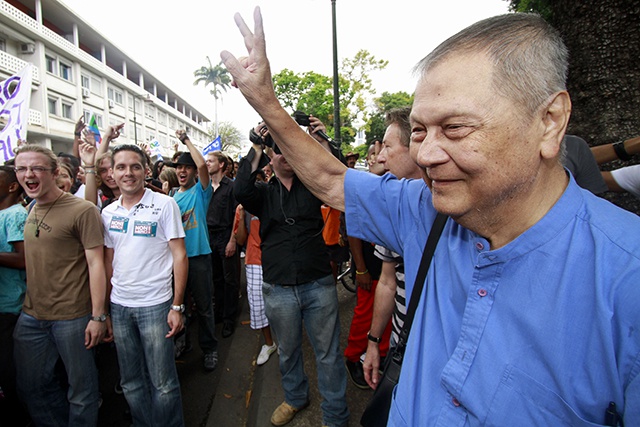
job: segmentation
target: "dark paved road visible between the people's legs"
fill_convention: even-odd
[[[338,298],[341,348],[344,349],[356,297],[338,285]],[[249,327],[246,293],[243,293],[240,307],[242,311],[236,332],[229,338],[219,338],[219,365],[213,372],[206,372],[202,368],[197,326],[194,324],[189,330],[194,349],[176,361],[187,427],[268,427],[271,425],[271,413],[284,399],[277,354],[274,353],[265,365],[255,365],[262,338],[259,332]],[[218,337],[221,337],[221,326],[217,325]],[[290,427],[320,426],[322,423],[315,360],[307,340],[304,343],[304,357],[311,386],[311,405],[296,415],[287,425]],[[125,399],[114,391],[117,380],[114,350],[103,346],[98,364],[104,400],[99,427],[128,427],[131,421],[125,415]],[[351,426],[359,425],[360,415],[371,393],[370,390],[356,388],[350,380],[347,382]]]

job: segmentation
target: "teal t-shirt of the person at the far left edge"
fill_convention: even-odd
[[[20,204],[0,210],[0,252],[15,252],[12,243],[24,241],[27,215]],[[0,267],[0,313],[20,313],[26,291],[24,270]]]

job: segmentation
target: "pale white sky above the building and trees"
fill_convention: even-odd
[[[233,16],[253,28],[260,6],[272,73],[333,75],[331,0],[60,0],[143,68],[215,120],[210,87],[194,86],[193,72],[215,65],[220,51],[246,54]],[[371,73],[376,94],[413,93],[414,65],[440,42],[468,25],[507,13],[505,0],[336,0],[338,60],[365,49],[389,61]],[[307,111],[313,114],[312,111]],[[247,134],[260,121],[240,91],[229,88],[218,101],[218,123],[228,121]],[[246,132],[245,132],[246,131]]]

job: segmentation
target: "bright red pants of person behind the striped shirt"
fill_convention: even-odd
[[[373,318],[373,300],[376,295],[377,280],[371,281],[371,290],[365,291],[358,286],[357,302],[353,308],[353,319],[351,319],[351,328],[349,329],[349,340],[347,348],[344,349],[344,357],[351,361],[360,360],[362,353],[367,351],[368,339],[367,334],[371,328],[371,319]],[[391,320],[382,334],[380,342],[380,356],[387,355],[389,350],[389,337],[391,336]]]

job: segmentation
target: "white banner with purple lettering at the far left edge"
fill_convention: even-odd
[[[0,158],[3,162],[15,157],[18,141],[27,140],[29,101],[31,100],[32,64],[0,82]]]

